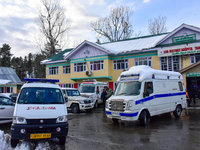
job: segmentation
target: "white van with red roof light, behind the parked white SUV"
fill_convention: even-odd
[[[81,83],[79,91],[82,96],[90,97],[94,107],[97,108],[98,104],[102,103],[101,93],[106,88],[108,88],[107,82],[97,82],[95,79],[90,79]]]

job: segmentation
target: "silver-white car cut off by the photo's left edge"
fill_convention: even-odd
[[[14,108],[11,98],[0,95],[0,124],[12,122]]]

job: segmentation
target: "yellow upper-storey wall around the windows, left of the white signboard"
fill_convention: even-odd
[[[128,59],[129,62],[129,68],[135,65],[135,59],[134,57],[150,57],[151,55],[155,55],[156,52],[149,52],[149,53],[140,53],[140,54],[133,54],[133,55],[124,55],[123,59]],[[132,58],[131,58],[132,57]],[[160,59],[158,56],[151,56],[152,57],[152,66],[154,69],[160,70]],[[122,56],[116,56],[116,57],[109,57],[109,56],[102,56],[98,57],[99,59],[104,59],[104,70],[98,70],[98,71],[92,71],[92,75],[90,77],[99,77],[99,76],[111,76],[112,80],[109,80],[108,78],[98,79],[98,81],[104,81],[104,82],[116,82],[119,78],[120,74],[123,70],[114,70],[113,69],[113,59],[121,59]],[[94,61],[95,58],[87,58],[86,62],[86,71],[89,71],[90,69],[90,61]],[[97,58],[96,58],[97,59]],[[49,70],[49,67],[46,67],[46,78],[49,79],[59,79],[60,82],[58,84],[65,84],[65,83],[82,83],[82,79],[78,78],[87,78],[85,71],[84,72],[74,72],[74,63],[78,62],[84,62],[84,59],[74,60],[70,64],[70,74],[63,74],[63,66],[62,63],[59,64],[59,73],[58,75],[48,75],[47,71]],[[66,64],[65,64],[66,65]],[[77,80],[74,82],[70,78],[77,78]]]

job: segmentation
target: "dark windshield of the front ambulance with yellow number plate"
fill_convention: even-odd
[[[63,104],[64,99],[60,89],[56,88],[24,88],[18,104]]]

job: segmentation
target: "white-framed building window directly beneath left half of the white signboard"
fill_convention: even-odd
[[[179,71],[179,56],[168,56],[168,57],[161,57],[161,70],[167,71]]]

